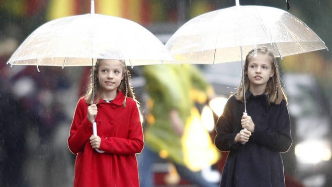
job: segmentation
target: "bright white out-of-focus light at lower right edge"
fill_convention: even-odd
[[[315,164],[328,161],[331,158],[331,150],[326,142],[306,141],[295,146],[295,155],[302,163]]]

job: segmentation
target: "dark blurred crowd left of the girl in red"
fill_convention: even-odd
[[[74,155],[66,140],[80,70],[11,68],[12,52],[0,55],[0,186],[71,186]]]

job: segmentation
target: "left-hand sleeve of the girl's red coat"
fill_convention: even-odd
[[[93,134],[92,122],[88,119],[87,110],[88,105],[85,103],[85,99],[80,99],[75,109],[68,138],[69,150],[74,154],[84,149],[85,143]]]

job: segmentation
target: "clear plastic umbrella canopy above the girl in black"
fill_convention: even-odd
[[[239,6],[209,12],[185,23],[166,46],[179,63],[217,64],[241,61],[266,46],[276,57],[327,49],[301,20],[272,7]],[[243,57],[243,56],[242,56]]]

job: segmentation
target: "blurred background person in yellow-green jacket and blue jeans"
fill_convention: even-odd
[[[216,183],[202,176],[200,172],[202,166],[191,168],[191,164],[198,163],[195,159],[190,160],[190,157],[201,156],[199,160],[205,161],[202,164],[204,166],[210,166],[219,159],[207,131],[201,129],[200,135],[189,135],[190,132],[186,132],[188,128],[191,128],[194,113],[198,113],[195,100],[201,96],[198,100],[201,103],[207,102],[213,95],[213,89],[203,79],[199,70],[191,65],[162,65],[161,67],[152,65],[142,68],[146,80],[146,91],[150,98],[146,103],[148,114],[147,127],[144,128],[145,146],[142,153],[138,155],[141,186],[154,186],[153,165],[159,158],[171,162],[177,173],[192,184],[202,187],[217,186]],[[198,124],[198,127],[202,125]],[[196,153],[188,153],[186,152],[188,142],[185,137],[189,136],[196,136],[196,140],[207,137],[209,144],[206,145],[205,150],[200,150],[200,146],[196,145]]]

